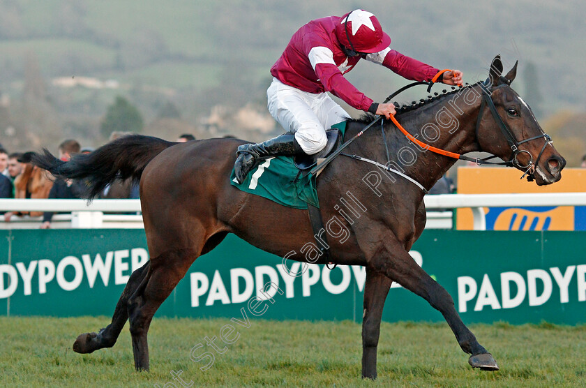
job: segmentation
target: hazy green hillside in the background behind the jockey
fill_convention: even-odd
[[[292,33],[308,20],[358,7],[379,17],[396,50],[438,68],[460,68],[467,82],[486,77],[497,53],[505,67],[519,59],[513,87],[540,117],[561,108],[586,110],[586,5],[577,0],[7,0],[0,3],[0,91],[9,118],[0,125],[10,122],[40,142],[78,133],[101,142],[98,124],[117,94],[137,105],[147,122],[167,102],[194,127],[219,104],[253,103],[263,110],[269,68]],[[529,64],[535,71],[527,78]],[[119,87],[57,87],[56,77],[114,80]],[[375,100],[405,84],[372,64],[348,77]],[[34,121],[38,114],[26,114],[31,109],[50,112],[51,119]]]

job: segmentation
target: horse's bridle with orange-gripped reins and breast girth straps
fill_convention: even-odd
[[[384,100],[384,102],[387,103],[389,100],[391,100],[392,98],[397,96],[402,91],[405,91],[406,89],[409,89],[410,87],[414,87],[414,86],[417,86],[420,84],[428,84],[429,85],[428,91],[429,91],[431,89],[431,87],[433,86],[433,83],[436,82],[437,79],[440,77],[440,75],[442,75],[446,71],[449,71],[449,69],[441,70],[439,73],[437,73],[435,75],[435,77],[433,77],[431,82],[413,82],[412,84],[408,84],[406,87],[403,87],[403,88],[399,89],[398,91],[396,91],[395,93],[391,94],[391,96],[387,97]],[[507,87],[511,83],[509,80],[506,80],[506,78],[504,78],[504,77],[501,77],[501,80],[502,80],[502,82],[504,82],[504,84],[500,84],[497,87],[493,87],[492,91],[495,91],[496,89],[499,89],[502,87]],[[541,156],[543,155],[543,151],[545,151],[547,145],[551,144],[551,142],[552,142],[551,137],[548,134],[543,133],[538,136],[530,137],[529,139],[523,139],[523,140],[518,141],[516,139],[515,135],[513,134],[513,132],[511,131],[511,129],[509,128],[509,126],[507,126],[505,124],[502,117],[497,112],[497,108],[495,107],[495,103],[493,102],[493,98],[490,97],[490,94],[492,94],[492,91],[490,91],[490,92],[488,91],[488,84],[489,84],[488,80],[487,80],[487,82],[478,82],[478,84],[481,84],[481,89],[483,91],[483,93],[482,93],[483,100],[480,105],[478,118],[476,119],[476,128],[475,128],[476,142],[477,143],[479,142],[480,124],[481,124],[481,121],[484,116],[485,108],[488,106],[488,109],[490,110],[491,114],[493,115],[493,119],[495,120],[495,122],[497,123],[497,126],[500,128],[502,134],[504,135],[506,142],[509,143],[509,147],[511,147],[512,154],[511,154],[511,157],[509,158],[509,161],[491,162],[490,160],[493,158],[497,158],[497,156],[492,155],[492,156],[488,156],[487,158],[482,158],[482,159],[481,158],[469,158],[468,156],[456,154],[455,152],[445,151],[443,149],[438,149],[436,147],[431,146],[430,144],[426,144],[425,142],[422,142],[421,140],[419,140],[416,137],[414,137],[413,135],[411,135],[409,132],[407,132],[407,130],[405,130],[405,128],[403,128],[403,126],[401,124],[399,124],[397,119],[392,115],[391,115],[391,121],[393,121],[393,124],[395,124],[395,126],[403,133],[403,135],[405,135],[405,137],[407,137],[407,139],[409,139],[411,142],[414,142],[422,149],[432,151],[435,154],[448,156],[450,158],[455,158],[455,159],[462,160],[462,161],[473,162],[473,163],[476,163],[477,165],[485,165],[485,164],[486,165],[504,165],[507,167],[517,167],[520,170],[527,169],[527,170],[525,170],[525,173],[523,174],[523,176],[521,176],[521,179],[523,179],[525,176],[527,176],[527,181],[533,181],[535,179],[534,174],[536,171],[536,166],[539,164],[539,161],[541,160]],[[476,86],[476,84],[472,85],[472,87],[474,87],[474,86]],[[461,87],[461,85],[460,85],[460,87]],[[379,120],[382,120],[382,122],[381,122],[382,137],[383,137],[383,142],[385,144],[385,147],[387,147],[386,148],[387,165],[383,165],[382,163],[378,163],[378,162],[372,161],[370,159],[363,158],[361,156],[342,154],[343,149],[345,149],[348,145],[350,145],[350,143],[354,142],[354,140],[356,140],[356,138],[361,136],[366,130],[368,130],[368,128],[371,128],[372,126],[374,126],[374,124],[377,123],[377,121],[379,121]],[[525,144],[525,143],[531,142],[533,140],[541,139],[542,137],[543,137],[543,139],[545,139],[545,143],[543,144],[543,147],[541,147],[541,151],[539,152],[539,155],[537,156],[536,161],[534,162],[532,154],[525,149],[520,149],[519,146],[521,144]],[[313,167],[313,169],[310,170],[310,174],[315,175],[317,172],[322,170],[326,165],[328,165],[333,160],[333,158],[335,158],[339,154],[342,154],[343,156],[348,156],[350,158],[354,158],[358,161],[364,161],[367,163],[377,165],[378,167],[381,167],[384,170],[398,174],[401,177],[404,177],[405,179],[412,181],[414,184],[416,184],[416,186],[419,186],[419,188],[421,188],[425,193],[427,193],[426,188],[424,188],[421,184],[419,184],[419,182],[414,181],[414,179],[412,179],[411,177],[407,177],[407,175],[404,174],[403,172],[400,172],[398,170],[395,170],[395,169],[388,167],[388,164],[390,161],[390,155],[389,155],[388,146],[386,144],[386,136],[384,133],[384,116],[376,117],[370,124],[368,124],[368,126],[363,128],[363,130],[361,130],[358,134],[354,135],[354,137],[352,137],[352,139],[347,140],[347,142],[342,144],[335,152],[333,152],[330,156],[328,156],[322,163],[319,163],[317,166]],[[518,158],[521,154],[527,154],[529,156],[529,161],[525,165],[521,164],[520,161],[518,160]]]

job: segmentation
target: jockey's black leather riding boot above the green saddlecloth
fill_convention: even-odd
[[[304,152],[292,133],[285,133],[285,135],[274,137],[262,143],[242,144],[236,151],[236,155],[238,155],[236,163],[234,163],[236,180],[241,184],[250,170],[271,156],[294,156],[297,154],[304,154]]]

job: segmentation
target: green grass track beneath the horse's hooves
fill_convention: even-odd
[[[0,376],[6,387],[163,387],[170,371],[194,386],[583,387],[586,326],[472,325],[501,366],[472,370],[446,324],[382,324],[375,382],[363,381],[361,325],[354,322],[251,320],[207,371],[189,358],[228,320],[153,320],[151,371],[136,373],[125,327],[112,349],[71,350],[75,337],[108,318],[0,318]],[[221,343],[220,340],[217,340]],[[217,342],[216,342],[217,343]],[[209,350],[209,348],[208,348]],[[197,354],[204,352],[203,348]],[[177,384],[179,387],[180,385]],[[172,385],[167,385],[172,387]]]

